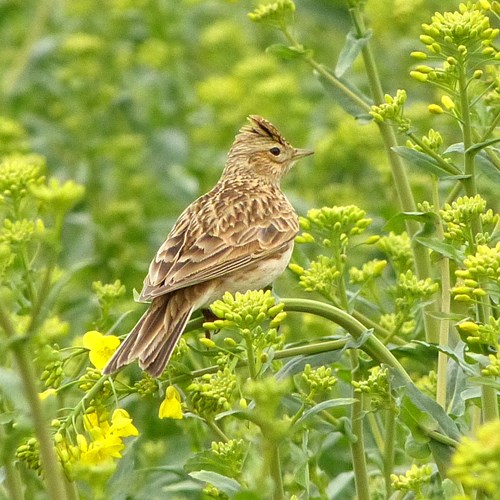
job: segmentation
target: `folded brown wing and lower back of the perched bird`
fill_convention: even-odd
[[[284,197],[277,207],[275,201],[258,202],[214,207],[199,199],[188,207],[151,262],[140,299],[225,276],[286,250],[299,229],[293,208]]]

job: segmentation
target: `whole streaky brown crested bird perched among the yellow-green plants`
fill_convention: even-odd
[[[149,308],[104,375],[137,359],[159,377],[194,311],[225,292],[265,288],[288,266],[299,222],[280,181],[313,151],[291,146],[261,116],[247,120],[217,184],[182,212],[152,260],[138,298]]]

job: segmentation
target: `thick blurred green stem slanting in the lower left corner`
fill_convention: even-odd
[[[9,313],[1,300],[0,327],[3,328],[9,340],[13,341],[11,343],[12,354],[18,366],[25,397],[31,410],[31,418],[40,446],[40,458],[45,474],[48,497],[53,500],[66,500],[64,475],[54,451],[47,418],[38,396],[37,378],[33,369],[33,362],[27,351],[27,340],[20,338],[18,341],[14,341],[18,335],[10,320]]]

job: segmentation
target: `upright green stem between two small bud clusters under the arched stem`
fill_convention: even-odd
[[[351,349],[352,380],[359,381],[362,377],[359,372],[358,351]],[[370,487],[368,481],[368,469],[366,466],[365,440],[363,432],[363,393],[354,392],[352,397],[356,402],[351,405],[351,427],[356,439],[351,441],[352,465],[354,470],[354,483],[356,485],[356,498],[358,500],[370,500]]]

